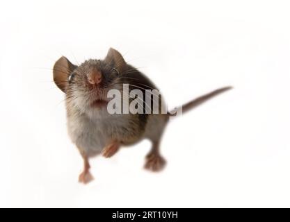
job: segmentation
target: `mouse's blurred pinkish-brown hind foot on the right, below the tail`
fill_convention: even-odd
[[[159,172],[166,166],[166,160],[159,151],[159,142],[153,142],[152,149],[145,157],[144,168],[153,172]]]

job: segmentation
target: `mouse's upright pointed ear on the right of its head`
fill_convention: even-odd
[[[127,69],[127,64],[121,55],[117,50],[110,48],[108,50],[108,54],[106,55],[106,58],[104,61],[110,65],[113,65],[115,69],[118,69],[120,73],[126,71]]]

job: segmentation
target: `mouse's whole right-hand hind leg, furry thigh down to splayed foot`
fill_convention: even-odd
[[[161,114],[153,114],[148,119],[145,137],[151,140],[152,148],[145,157],[145,169],[158,172],[166,166],[166,160],[160,153],[160,143],[163,131],[166,128],[168,117]]]

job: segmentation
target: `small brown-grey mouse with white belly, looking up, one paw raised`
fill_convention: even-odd
[[[221,87],[167,111],[163,95],[152,80],[129,65],[113,48],[104,59],[88,59],[81,65],[74,65],[62,56],[54,64],[53,78],[65,94],[67,131],[83,160],[79,175],[83,184],[93,180],[91,157],[112,157],[121,147],[143,139],[152,142],[145,157],[145,169],[161,171],[166,166],[160,152],[161,138],[170,118],[232,89]],[[129,112],[124,112],[128,111],[125,107],[130,108]]]

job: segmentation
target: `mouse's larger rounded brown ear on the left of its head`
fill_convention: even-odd
[[[65,92],[65,87],[68,84],[68,77],[70,73],[76,69],[76,65],[73,65],[67,58],[62,56],[54,64],[54,83]]]

